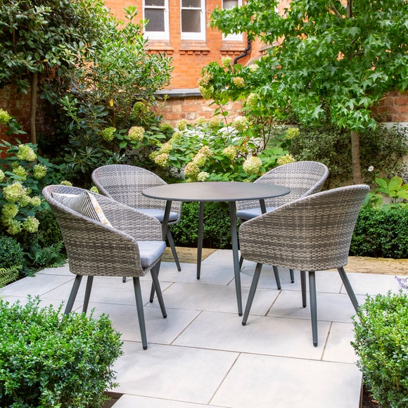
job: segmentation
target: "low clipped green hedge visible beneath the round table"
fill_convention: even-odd
[[[197,246],[198,212],[198,203],[183,203],[180,222],[171,226],[177,246]],[[203,247],[231,249],[230,226],[227,203],[205,203]]]

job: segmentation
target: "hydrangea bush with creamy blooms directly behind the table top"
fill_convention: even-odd
[[[279,127],[278,133],[285,129]],[[293,161],[286,139],[274,142],[264,144],[248,117],[238,116],[230,123],[220,116],[200,117],[194,124],[179,120],[170,140],[159,144],[150,158],[186,181],[253,181],[272,167]]]

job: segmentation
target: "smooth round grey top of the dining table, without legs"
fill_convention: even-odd
[[[290,193],[288,187],[238,181],[201,181],[197,183],[163,184],[143,191],[144,196],[172,201],[237,201],[262,200]]]

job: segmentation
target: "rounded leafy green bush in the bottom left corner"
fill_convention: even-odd
[[[101,407],[122,354],[108,317],[0,300],[1,407]]]

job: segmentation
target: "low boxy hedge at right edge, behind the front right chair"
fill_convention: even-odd
[[[408,208],[371,208],[359,213],[350,255],[408,258]]]

